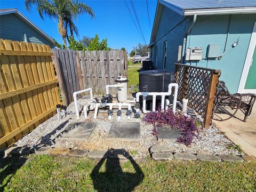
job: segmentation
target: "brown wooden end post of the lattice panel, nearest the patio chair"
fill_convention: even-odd
[[[207,93],[206,103],[205,103],[205,115],[204,115],[204,128],[208,129],[211,123],[212,109],[214,105],[215,93],[217,90],[219,73],[211,72],[210,86]]]

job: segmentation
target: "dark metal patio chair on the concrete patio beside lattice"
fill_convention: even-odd
[[[214,113],[218,111],[220,107],[230,107],[231,109],[236,109],[234,114],[226,119],[214,119],[217,121],[225,121],[234,117],[238,109],[240,109],[244,114],[244,122],[246,122],[247,117],[252,112],[253,104],[256,100],[256,95],[252,93],[235,93],[230,94],[225,82],[220,81],[218,86],[217,102],[215,103]]]

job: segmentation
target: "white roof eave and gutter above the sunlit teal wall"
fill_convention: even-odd
[[[216,15],[216,14],[250,14],[256,13],[256,7],[230,7],[218,9],[191,9],[185,10],[183,15]]]

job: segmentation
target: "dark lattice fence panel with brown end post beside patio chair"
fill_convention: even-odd
[[[204,118],[204,127],[209,128],[220,70],[175,64],[175,82],[179,84],[178,97],[188,99],[188,106]]]

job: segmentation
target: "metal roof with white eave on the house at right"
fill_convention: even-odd
[[[181,15],[256,13],[255,0],[159,0]]]

